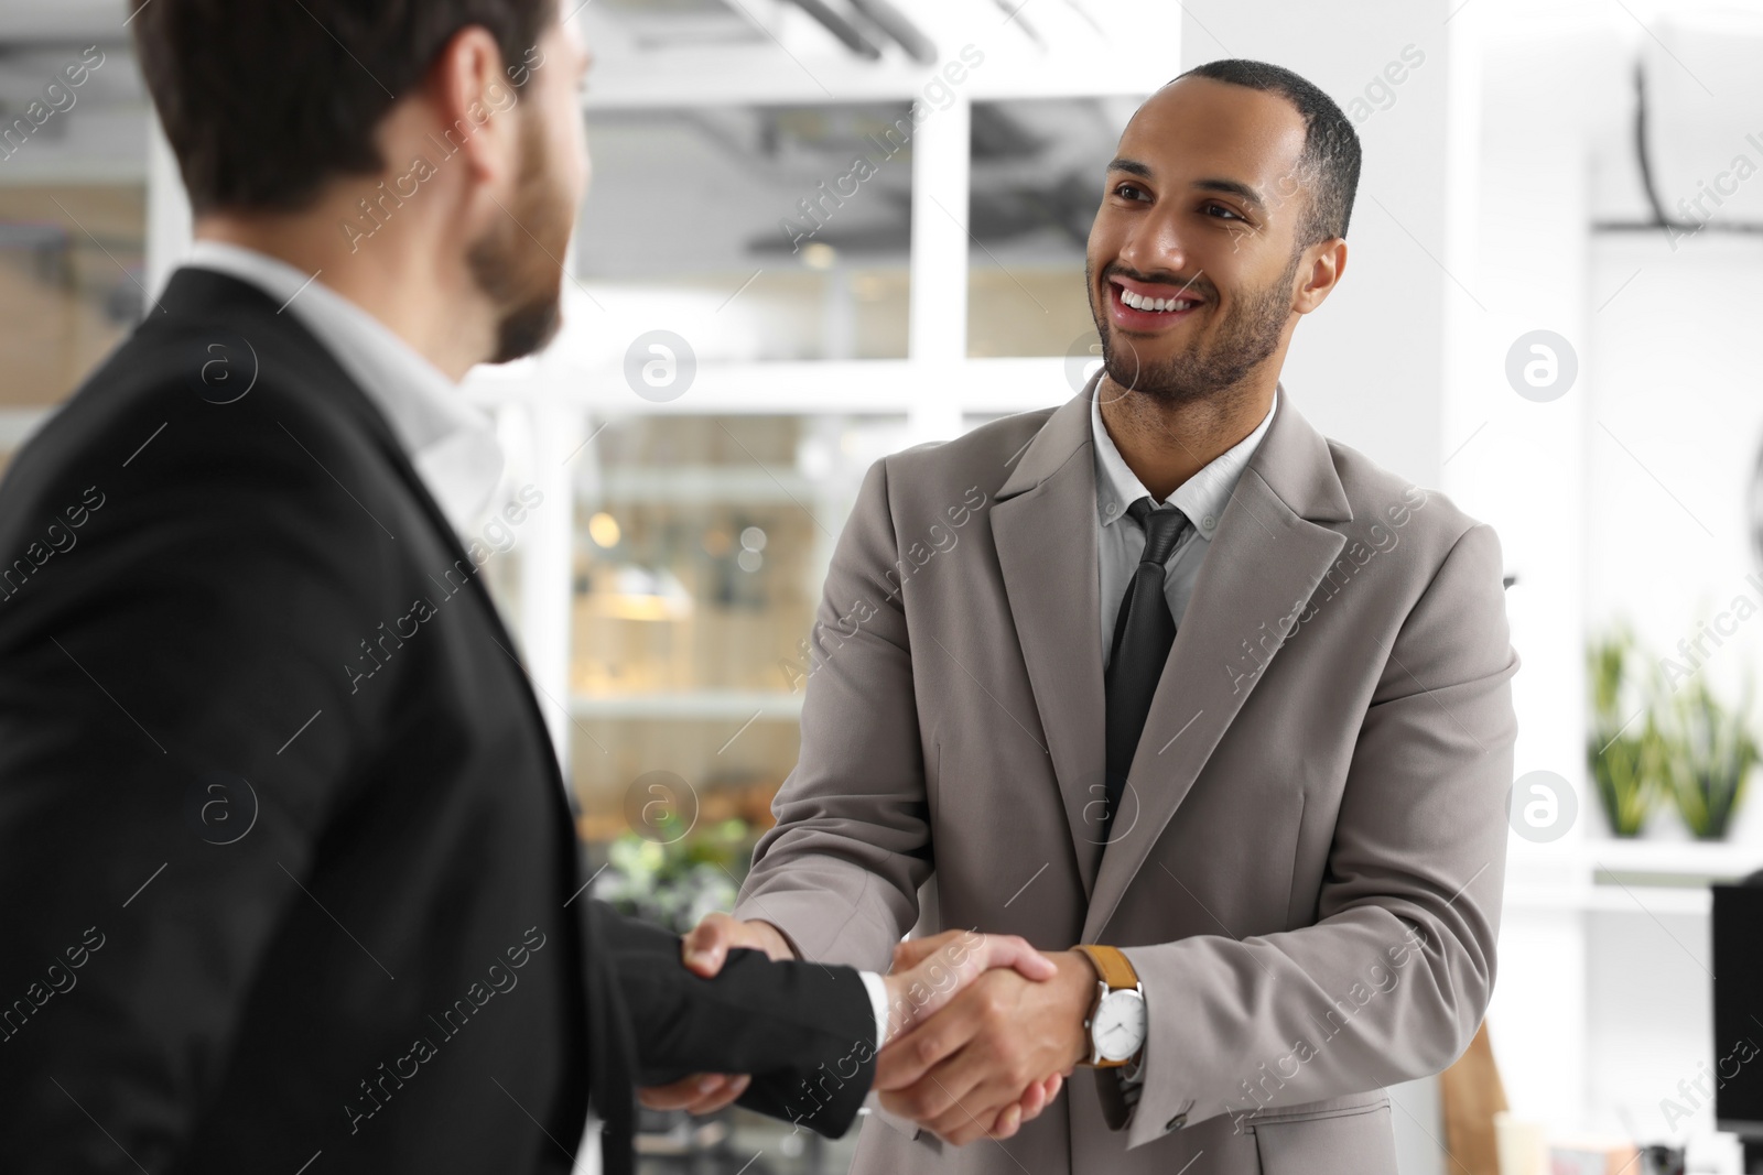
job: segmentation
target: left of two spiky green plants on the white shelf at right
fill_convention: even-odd
[[[1638,837],[1664,791],[1664,733],[1650,691],[1631,678],[1633,652],[1634,632],[1627,625],[1587,647],[1592,689],[1587,761],[1599,807],[1617,837]]]

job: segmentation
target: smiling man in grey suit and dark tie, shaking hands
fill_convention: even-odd
[[[882,967],[915,925],[1079,944],[883,1052],[855,1171],[1389,1175],[1382,1087],[1451,1064],[1493,987],[1499,541],[1280,386],[1347,262],[1336,104],[1215,62],[1118,151],[1104,372],[869,470],[777,826],[689,946],[714,971],[730,944]]]

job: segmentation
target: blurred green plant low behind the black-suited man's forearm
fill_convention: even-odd
[[[656,839],[626,831],[606,846],[606,865],[594,881],[594,897],[673,934],[735,905],[740,881],[753,858],[753,830],[726,819],[689,835],[675,814],[654,823]]]

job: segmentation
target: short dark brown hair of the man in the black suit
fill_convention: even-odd
[[[384,167],[374,132],[462,28],[502,49],[510,85],[557,0],[153,0],[141,74],[196,213],[298,211],[330,180]]]

